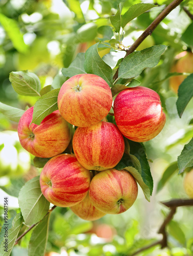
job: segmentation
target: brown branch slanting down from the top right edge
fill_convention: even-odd
[[[141,42],[146,39],[147,36],[151,35],[152,32],[155,30],[155,28],[160,24],[160,22],[173,10],[175,9],[183,0],[174,0],[170,5],[168,5],[150,24],[150,26],[144,30],[144,32],[137,38],[137,40],[133,43],[132,46],[129,47],[128,50],[126,50],[126,55],[124,58],[126,58],[130,53],[134,52],[137,47],[141,44]],[[118,69],[116,70],[116,73],[114,74],[114,79],[117,79],[118,77]]]

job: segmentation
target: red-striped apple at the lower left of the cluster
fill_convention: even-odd
[[[43,167],[40,187],[47,201],[60,207],[80,203],[87,195],[90,172],[73,155],[51,158]]]

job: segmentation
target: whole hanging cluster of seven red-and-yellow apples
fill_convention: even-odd
[[[32,123],[33,107],[20,118],[21,145],[31,154],[51,158],[43,167],[40,186],[44,197],[70,207],[85,220],[120,214],[137,198],[136,180],[114,167],[125,151],[124,137],[138,142],[154,138],[163,128],[165,114],[159,95],[148,88],[128,88],[113,104],[116,125],[105,117],[112,107],[107,82],[93,74],[69,78],[58,95],[58,110]],[[74,154],[64,154],[71,140],[69,123],[77,127]]]

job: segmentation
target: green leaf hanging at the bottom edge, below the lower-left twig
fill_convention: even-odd
[[[44,256],[49,235],[50,214],[43,218],[32,232],[28,256]]]

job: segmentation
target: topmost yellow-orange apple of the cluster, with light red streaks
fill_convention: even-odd
[[[97,75],[80,74],[65,81],[58,94],[58,109],[69,123],[87,127],[109,113],[112,94],[108,83]]]

